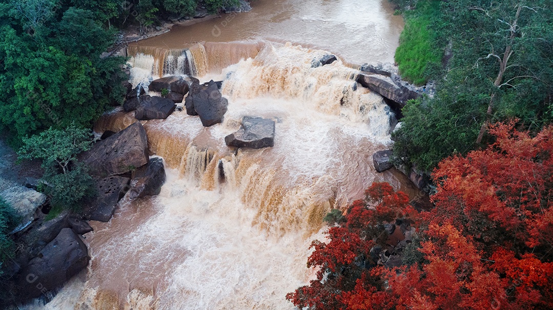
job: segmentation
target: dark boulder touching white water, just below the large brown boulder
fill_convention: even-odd
[[[161,191],[165,182],[165,167],[163,160],[152,158],[148,164],[133,171],[129,198],[136,199],[144,196],[155,196]]]

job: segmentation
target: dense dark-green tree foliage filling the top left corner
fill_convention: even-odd
[[[32,23],[33,9],[19,9],[17,1],[0,12],[0,129],[15,141],[71,122],[88,127],[124,93],[124,58],[100,58],[112,31],[89,10],[32,1],[48,10]]]

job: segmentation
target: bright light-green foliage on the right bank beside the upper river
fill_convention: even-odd
[[[405,28],[395,51],[395,61],[403,78],[424,85],[431,69],[440,66],[442,50],[436,48],[436,29],[432,18],[440,14],[438,1],[425,1],[418,9],[405,13]]]

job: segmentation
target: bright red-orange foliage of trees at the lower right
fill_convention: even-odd
[[[434,171],[435,208],[420,214],[415,262],[366,263],[386,224],[416,218],[403,193],[374,183],[328,243],[314,241],[317,280],[288,299],[312,309],[553,308],[553,127],[531,136],[511,122],[490,132],[489,148]]]

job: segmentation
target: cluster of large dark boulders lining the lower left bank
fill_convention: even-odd
[[[158,195],[165,182],[163,161],[149,157],[140,122],[97,141],[80,160],[90,166],[96,181],[96,193],[86,199],[82,214],[64,211],[45,220],[44,194],[24,186],[0,192],[22,216],[22,224],[12,232],[22,249],[4,266],[17,300],[54,290],[88,265],[90,255],[80,237],[92,231],[87,220],[108,222],[127,192],[129,199]]]

